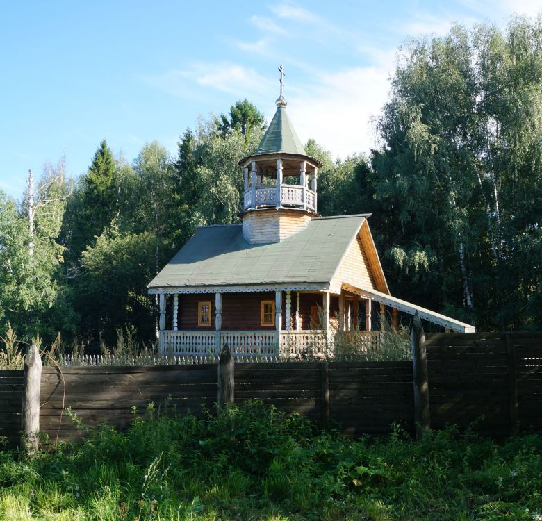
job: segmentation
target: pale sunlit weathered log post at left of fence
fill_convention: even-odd
[[[40,387],[42,379],[42,359],[38,346],[32,342],[24,357],[22,439],[21,447],[32,456],[38,450],[40,431]]]

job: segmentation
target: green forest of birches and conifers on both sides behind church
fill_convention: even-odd
[[[319,212],[372,213],[394,296],[481,331],[542,329],[542,18],[409,40],[372,124],[369,156],[306,143]],[[240,222],[238,160],[264,131],[238,101],[176,157],[151,142],[129,163],[104,140],[79,179],[61,158],[21,199],[0,192],[0,337],[154,340],[147,283],[197,226]]]

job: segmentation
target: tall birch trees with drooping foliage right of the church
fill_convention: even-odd
[[[515,19],[412,40],[379,120],[379,237],[400,295],[482,329],[541,325],[541,34]]]

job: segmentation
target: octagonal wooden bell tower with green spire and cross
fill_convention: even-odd
[[[306,155],[286,113],[283,76],[277,112],[258,149],[240,160],[245,169],[243,236],[251,244],[281,242],[306,228],[318,213],[318,168]]]

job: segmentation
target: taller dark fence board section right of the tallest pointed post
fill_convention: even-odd
[[[542,333],[433,333],[425,346],[434,429],[542,427]]]

